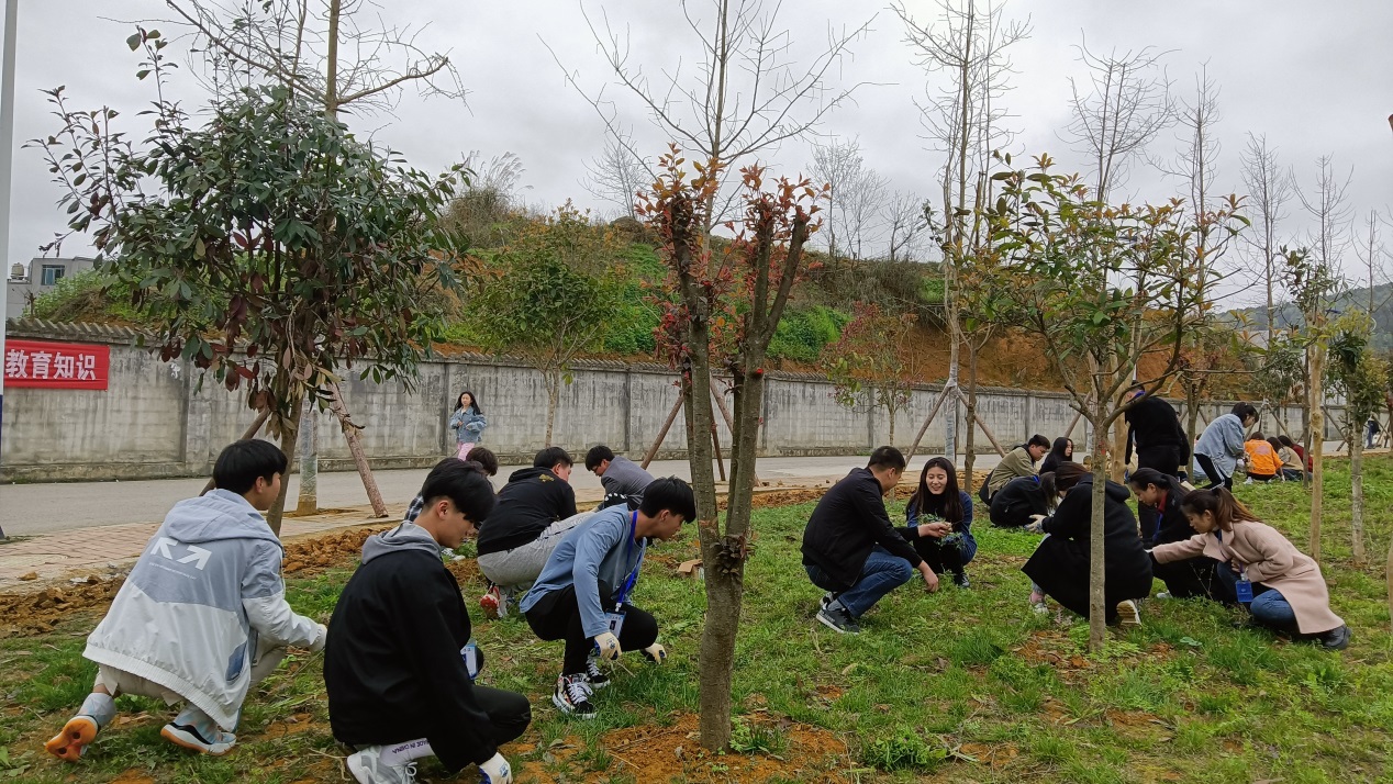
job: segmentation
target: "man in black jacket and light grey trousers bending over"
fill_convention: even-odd
[[[479,599],[486,616],[506,616],[513,596],[532,586],[561,538],[589,517],[577,517],[570,479],[570,453],[547,447],[532,458],[532,468],[514,471],[499,490],[499,507],[479,531],[479,571],[490,583]]]

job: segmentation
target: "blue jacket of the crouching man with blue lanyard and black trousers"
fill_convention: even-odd
[[[609,507],[573,528],[552,550],[542,574],[518,607],[527,613],[547,593],[574,585],[585,636],[607,632],[599,585],[603,582],[617,595],[630,575],[638,578],[648,543],[634,540],[637,515],[627,505]]]

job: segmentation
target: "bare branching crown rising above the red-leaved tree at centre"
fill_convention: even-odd
[[[709,15],[702,15],[705,6]],[[628,32],[614,29],[609,14],[593,19],[581,6],[585,24],[609,64],[614,84],[648,114],[664,135],[681,148],[696,153],[703,166],[716,166],[722,177],[738,182],[741,162],[780,142],[802,138],[822,120],[851,100],[865,84],[829,86],[833,71],[851,56],[853,45],[869,29],[875,17],[854,29],[829,29],[820,52],[800,65],[794,56],[793,35],[779,22],[781,3],[765,0],[683,0],[683,15],[698,49],[695,70],[663,70],[649,78],[642,63],[630,57]],[[543,42],[546,43],[546,42]],[[673,46],[678,46],[676,38]],[[605,86],[584,88],[578,74],[567,70],[566,79],[595,107],[610,136],[624,142],[620,110],[605,93]],[[637,160],[644,156],[632,142],[624,145]],[[724,196],[720,195],[724,192]],[[738,189],[722,188],[709,194],[703,234],[724,220]]]

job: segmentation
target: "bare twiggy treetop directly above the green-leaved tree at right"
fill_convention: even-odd
[[[1078,60],[1088,67],[1089,77],[1085,85],[1068,81],[1074,118],[1066,128],[1066,141],[1089,157],[1100,202],[1126,181],[1133,159],[1174,121],[1170,81],[1160,65],[1165,56],[1149,46],[1102,56],[1089,50],[1087,40],[1078,45]]]

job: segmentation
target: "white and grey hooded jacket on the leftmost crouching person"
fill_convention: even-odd
[[[174,504],[82,656],[178,693],[223,730],[237,728],[259,649],[323,643],[291,611],[280,540],[228,490]]]

